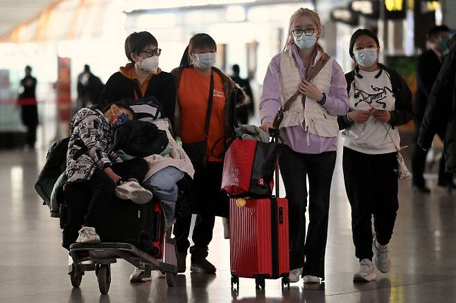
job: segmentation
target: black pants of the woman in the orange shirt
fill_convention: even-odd
[[[206,169],[200,169],[193,176],[193,197],[198,212],[192,240],[195,247],[207,248],[212,240],[216,215],[228,217],[229,200],[220,190],[222,186],[223,163],[209,162]],[[174,225],[176,246],[179,252],[190,247],[191,217],[177,219]]]

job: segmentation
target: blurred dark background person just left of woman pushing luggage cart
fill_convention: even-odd
[[[89,104],[96,104],[103,87],[100,78],[91,73],[90,66],[85,64],[84,71],[78,75],[78,110],[88,107]]]

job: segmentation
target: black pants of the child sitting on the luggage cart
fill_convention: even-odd
[[[134,178],[141,183],[148,171],[148,164],[143,158],[134,158],[122,163],[113,163],[111,169],[125,181]],[[71,201],[75,199],[78,200],[74,201],[75,203],[82,203],[83,207],[79,209],[82,212],[83,218],[81,216],[79,220],[85,226],[96,228],[100,222],[100,218],[105,215],[109,202],[114,199],[116,184],[105,172],[96,169],[90,181],[73,183],[71,187],[73,194],[66,193],[65,199],[70,199]],[[87,201],[80,201],[85,200],[81,199],[81,197],[85,197]],[[76,217],[80,216],[80,214],[74,214],[73,212],[71,214],[72,220],[73,215]]]

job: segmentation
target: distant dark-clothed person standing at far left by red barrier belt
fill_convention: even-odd
[[[36,98],[37,79],[32,76],[32,68],[26,66],[26,76],[21,80],[22,92],[17,104],[21,107],[22,124],[27,127],[26,147],[35,149],[38,126],[38,105]]]

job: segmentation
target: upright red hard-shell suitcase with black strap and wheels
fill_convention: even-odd
[[[290,287],[288,200],[278,197],[277,167],[276,196],[230,199],[231,288],[239,287],[239,277],[255,278],[256,288],[265,288],[265,279],[282,277],[282,287]]]

